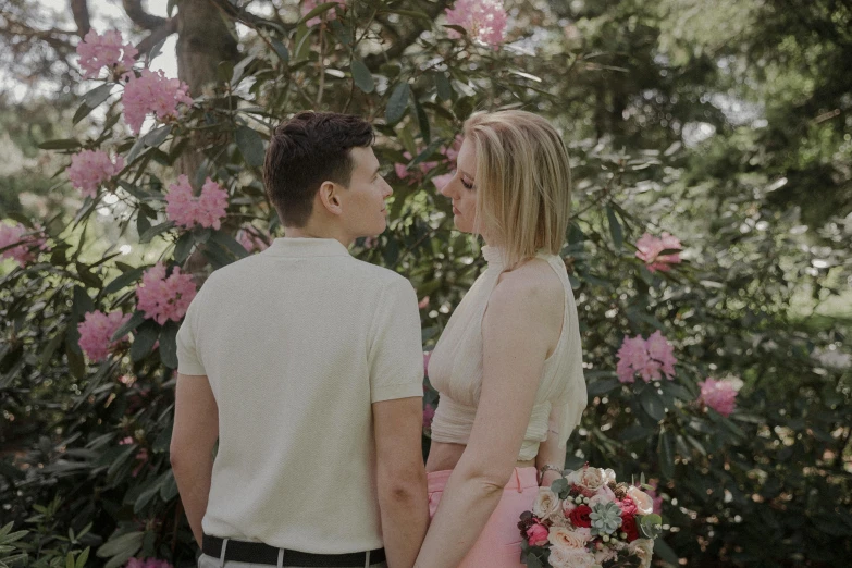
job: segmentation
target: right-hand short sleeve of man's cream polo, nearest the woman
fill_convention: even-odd
[[[420,310],[407,280],[394,281],[382,292],[370,338],[370,400],[423,396]]]

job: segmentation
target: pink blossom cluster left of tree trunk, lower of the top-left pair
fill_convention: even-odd
[[[132,75],[124,87],[124,121],[134,134],[139,134],[148,113],[161,121],[176,119],[178,102],[193,103],[188,89],[186,83],[166,78],[162,71],[144,69],[138,77]]]

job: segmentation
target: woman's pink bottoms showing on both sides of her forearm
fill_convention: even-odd
[[[429,517],[435,516],[452,470],[433,471],[429,480]],[[458,568],[519,568],[521,535],[520,514],[532,508],[539,494],[535,468],[515,468],[503,490],[497,508]]]

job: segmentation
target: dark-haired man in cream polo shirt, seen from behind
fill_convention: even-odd
[[[281,124],[264,183],[285,236],[214,272],[181,326],[171,460],[201,568],[413,566],[417,297],[347,251],[386,225],[372,141],[357,116]]]

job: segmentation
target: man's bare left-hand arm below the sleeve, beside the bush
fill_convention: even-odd
[[[201,519],[207,511],[213,472],[213,446],[219,439],[219,408],[206,375],[177,374],[171,461],[193,535],[201,546]]]

